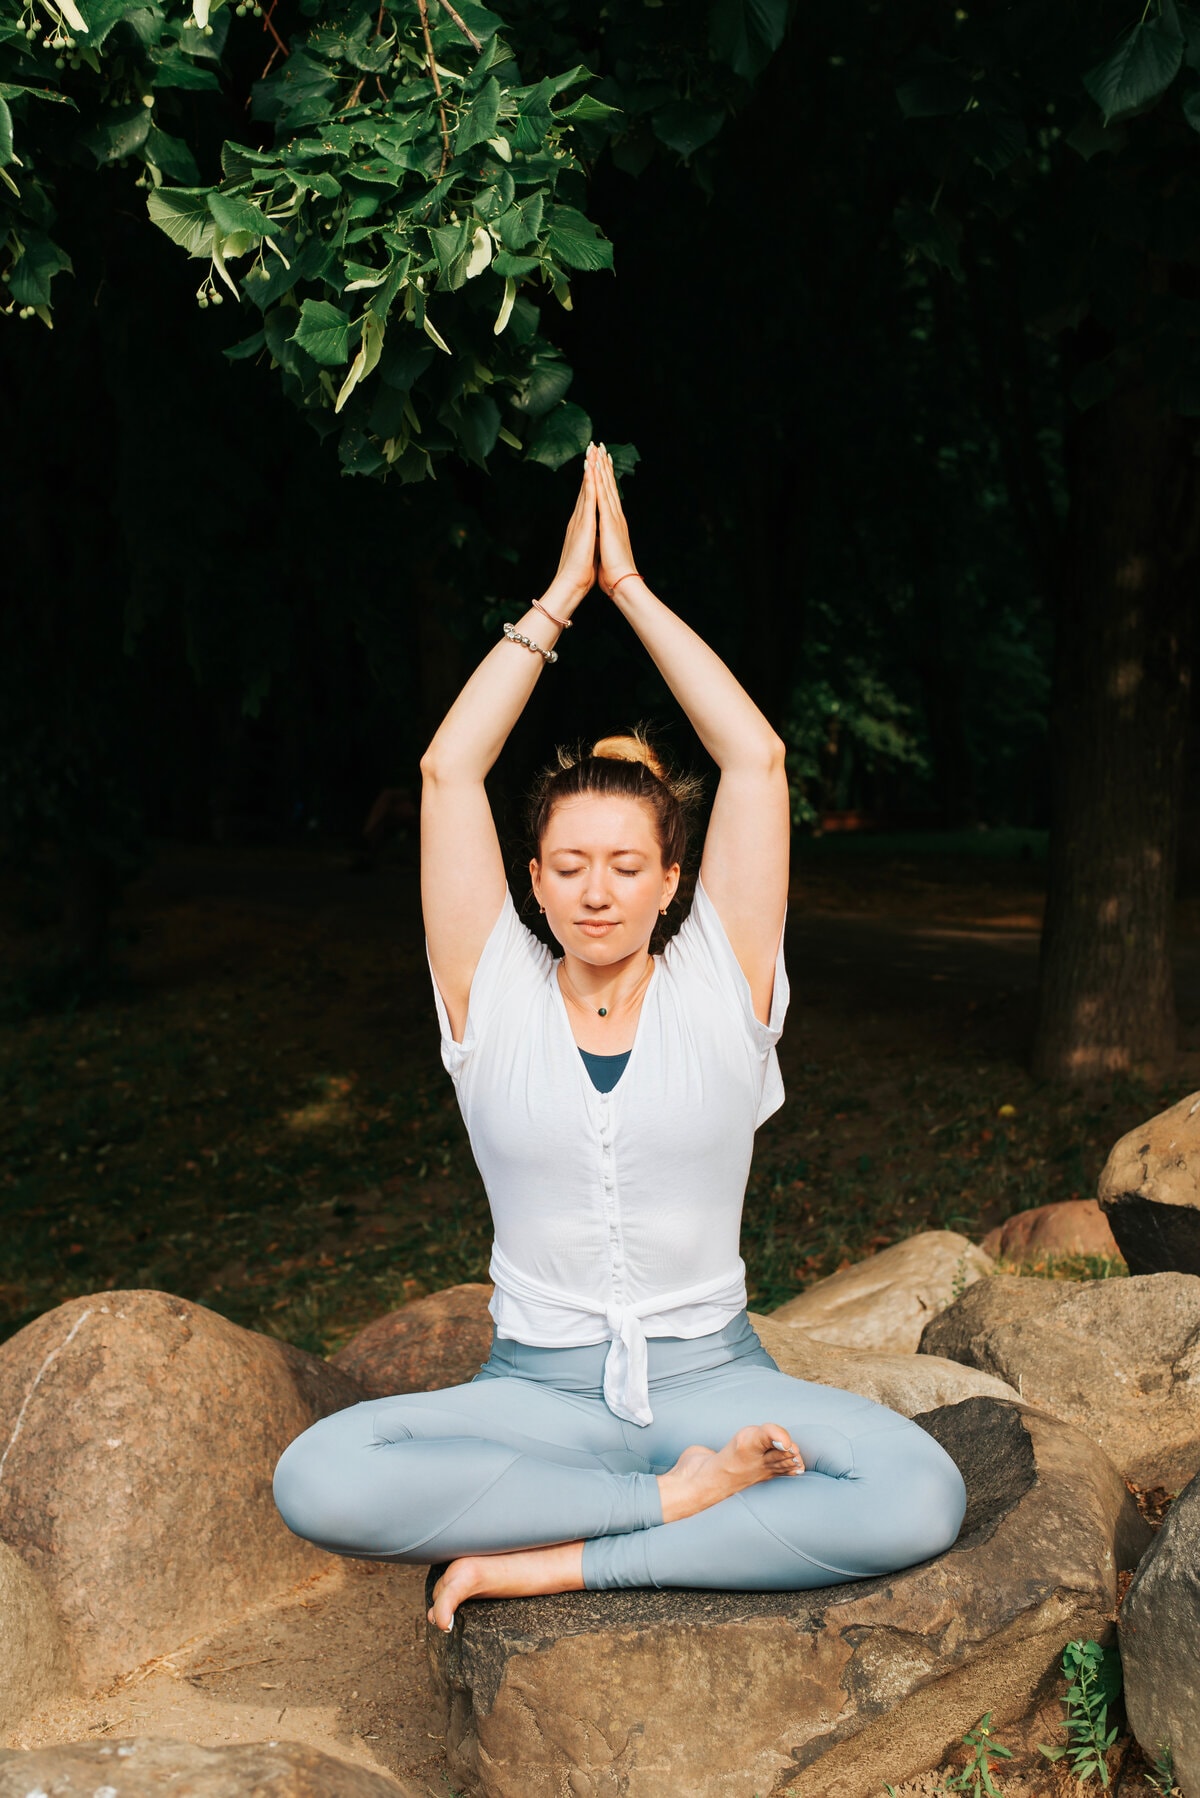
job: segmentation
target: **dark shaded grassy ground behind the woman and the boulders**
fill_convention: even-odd
[[[1195,901],[1175,1077],[1027,1075],[1040,904],[1036,861],[799,856],[788,1104],[747,1196],[756,1309],[912,1230],[1092,1192],[1123,1131],[1200,1086]],[[153,1286],[327,1352],[484,1277],[403,850],[365,874],[342,850],[164,843],[119,926],[124,991],[0,1028],[0,1334]],[[9,908],[11,992],[47,937]]]

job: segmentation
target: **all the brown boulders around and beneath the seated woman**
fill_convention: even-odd
[[[997,1269],[1033,1255],[1123,1259],[1128,1278]],[[408,1304],[329,1361],[157,1291],[72,1298],[2,1343],[0,1740],[326,1566],[275,1512],[282,1447],[363,1397],[471,1379],[489,1295]],[[466,1604],[428,1638],[455,1787],[867,1798],[984,1712],[1020,1730],[1065,1643],[1115,1633],[1130,1728],[1200,1798],[1200,1095],[1114,1147],[1096,1201],[982,1248],[925,1232],[754,1323],[786,1374],[937,1437],[968,1487],[957,1543],[804,1593]],[[166,1789],[399,1791],[297,1742],[0,1748],[0,1798]]]

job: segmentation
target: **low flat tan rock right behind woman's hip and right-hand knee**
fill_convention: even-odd
[[[880,1354],[873,1348],[837,1348],[799,1327],[777,1323],[774,1316],[750,1314],[766,1354],[793,1379],[813,1379],[819,1386],[860,1392],[864,1399],[887,1404],[901,1417],[918,1417],[961,1399],[1007,1399],[1016,1392],[991,1374],[981,1374],[959,1361],[934,1354]]]

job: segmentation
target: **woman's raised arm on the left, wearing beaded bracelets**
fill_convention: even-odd
[[[563,554],[542,595],[516,629],[552,649],[596,581],[596,473],[588,457]],[[462,1041],[475,967],[504,904],[504,856],[484,779],[525,708],[545,662],[524,644],[500,638],[446,712],[421,757],[421,910],[430,962],[446,1001],[450,1028]]]

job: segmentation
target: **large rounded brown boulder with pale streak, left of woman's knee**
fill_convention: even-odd
[[[284,1446],[362,1399],[169,1293],[72,1298],[0,1343],[0,1541],[94,1688],[327,1566],[272,1500]]]

